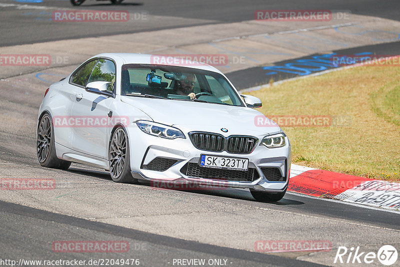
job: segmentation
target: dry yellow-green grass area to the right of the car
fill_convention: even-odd
[[[327,127],[285,127],[292,161],[400,180],[400,67],[364,66],[250,92],[271,115],[328,115]]]

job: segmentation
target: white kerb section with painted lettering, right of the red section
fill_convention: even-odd
[[[400,183],[371,180],[348,189],[334,199],[400,210]]]

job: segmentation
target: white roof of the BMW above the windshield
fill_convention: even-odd
[[[173,54],[140,54],[140,53],[100,53],[92,56],[91,58],[95,57],[109,57],[114,59],[115,61],[120,62],[120,64],[154,64],[154,56],[159,56],[159,57],[174,57]],[[178,60],[179,61],[179,60]],[[185,64],[172,64],[173,66],[182,66],[182,67],[191,67],[191,68],[197,68],[197,69],[203,69],[203,70],[209,70],[209,71],[214,71],[221,73],[218,69],[216,69],[213,66],[210,66],[206,63],[202,62],[196,62],[196,61],[191,61],[191,60],[186,60]],[[170,64],[160,64],[160,65],[170,65]]]

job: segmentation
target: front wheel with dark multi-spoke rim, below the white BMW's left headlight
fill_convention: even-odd
[[[113,181],[137,183],[137,179],[133,178],[130,173],[129,140],[125,129],[121,126],[112,133],[108,148],[108,161],[109,173]]]

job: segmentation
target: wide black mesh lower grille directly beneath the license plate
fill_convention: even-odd
[[[187,176],[205,179],[253,181],[259,178],[258,172],[254,168],[248,168],[248,170],[218,169],[200,167],[197,163],[193,162],[186,163],[180,171]]]

